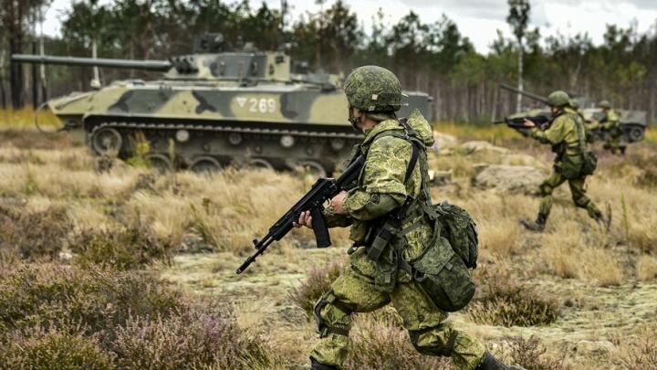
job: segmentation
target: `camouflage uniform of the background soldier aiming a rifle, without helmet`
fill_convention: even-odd
[[[582,128],[581,131],[578,126]],[[579,143],[579,132],[583,134],[583,126],[584,123],[581,122],[577,112],[566,107],[546,131],[541,131],[538,128],[531,130],[532,138],[537,139],[540,143],[552,145],[553,151],[557,153],[554,171],[540,185],[541,202],[537,217],[537,223],[539,224],[545,224],[547,221],[553,203],[552,192],[566,181],[568,181],[575,206],[585,208],[589,213],[589,217],[596,220],[602,219],[600,208],[586,195],[586,176],[575,178],[568,176],[571,178],[567,178],[564,175],[568,174],[569,171],[573,171],[569,168],[573,165],[572,163],[581,162],[582,151]]]

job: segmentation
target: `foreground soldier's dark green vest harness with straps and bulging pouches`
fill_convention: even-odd
[[[375,262],[374,285],[381,291],[394,288],[398,270],[405,270],[420,283],[437,307],[447,312],[462,309],[474,296],[474,282],[468,268],[476,267],[477,233],[472,217],[463,208],[443,202],[433,205],[429,191],[429,164],[422,139],[405,121],[400,130],[377,134],[371,142],[383,136],[398,137],[412,143],[412,158],[404,175],[404,184],[416,165],[422,175],[420,194],[407,196],[403,205],[370,224],[368,237],[362,243],[367,257]],[[364,153],[367,154],[367,153]],[[362,173],[359,185],[362,185]],[[433,223],[433,238],[420,256],[406,261],[404,236],[422,225],[422,217]],[[414,223],[406,227],[411,220]],[[360,245],[355,245],[350,252]]]

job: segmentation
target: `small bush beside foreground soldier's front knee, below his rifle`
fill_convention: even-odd
[[[308,279],[295,288],[289,297],[297,303],[309,316],[312,316],[313,306],[319,297],[330,288],[330,285],[338,279],[344,263],[337,262],[322,268],[313,268],[308,272]]]

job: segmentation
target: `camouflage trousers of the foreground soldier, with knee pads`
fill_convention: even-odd
[[[447,312],[436,308],[417,282],[398,281],[391,293],[384,293],[374,290],[370,281],[351,268],[315,306],[321,339],[310,356],[322,364],[341,366],[349,351],[351,313],[371,312],[388,303],[400,314],[420,353],[451,355],[458,369],[473,369],[483,361],[484,344],[444,322]]]

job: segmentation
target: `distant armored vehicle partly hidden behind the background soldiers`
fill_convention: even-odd
[[[506,85],[504,83],[500,84],[500,88],[511,92],[520,93],[523,96],[526,96],[527,98],[531,100],[535,100],[539,103],[545,103],[547,101],[547,98],[545,97],[542,97],[540,95],[528,91],[517,90],[516,88]],[[570,95],[572,96],[574,94],[570,94]],[[579,111],[584,116],[584,120],[588,122],[592,120],[600,121],[604,117],[604,113],[602,112],[602,109],[594,107],[592,100],[590,100],[589,98],[575,96],[574,99],[579,104]],[[645,129],[648,122],[648,113],[646,111],[627,111],[627,110],[615,110],[615,111],[619,115],[620,127],[622,128],[623,131],[623,137],[621,141],[623,143],[641,142],[641,140],[643,140],[643,136],[645,135]],[[546,106],[542,106],[538,108],[528,109],[527,111],[517,112],[509,117],[510,118],[525,117],[525,116],[549,117],[550,115],[551,114],[549,109]],[[519,131],[523,132],[522,129],[520,129]],[[525,131],[525,133],[526,132],[527,131]],[[596,138],[599,140],[605,140],[607,134],[608,132],[604,132],[604,131],[595,132]]]

